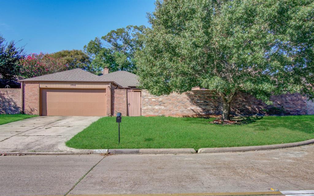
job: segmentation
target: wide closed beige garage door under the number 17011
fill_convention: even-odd
[[[42,88],[42,116],[106,116],[106,89]]]

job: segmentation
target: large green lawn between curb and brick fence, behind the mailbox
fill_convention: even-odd
[[[66,142],[81,149],[258,146],[314,138],[314,115],[252,117],[249,124],[217,125],[214,118],[104,117]]]

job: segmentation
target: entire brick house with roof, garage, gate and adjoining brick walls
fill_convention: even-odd
[[[222,101],[212,91],[193,88],[187,93],[154,96],[137,88],[137,76],[126,71],[101,76],[82,69],[20,80],[21,89],[0,89],[0,113],[65,116],[166,115],[208,116],[221,113]],[[264,114],[282,108],[286,114],[314,114],[314,103],[299,93],[272,96],[266,105],[247,93],[238,93],[231,114]]]

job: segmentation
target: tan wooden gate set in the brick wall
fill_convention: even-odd
[[[141,91],[127,90],[127,115],[141,115]]]

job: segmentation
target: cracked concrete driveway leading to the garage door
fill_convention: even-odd
[[[38,116],[0,125],[0,152],[65,152],[65,142],[98,116]]]

